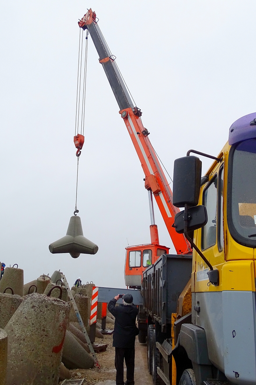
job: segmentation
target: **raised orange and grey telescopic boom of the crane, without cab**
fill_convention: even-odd
[[[107,75],[109,84],[119,105],[122,119],[124,120],[129,135],[139,156],[142,169],[145,174],[145,188],[151,190],[164,219],[167,230],[172,239],[177,254],[190,253],[190,244],[183,234],[178,234],[175,228],[174,216],[180,210],[172,204],[172,191],[165,174],[160,166],[157,155],[148,138],[149,132],[142,124],[140,116],[142,112],[133,105],[129,92],[122,80],[116,66],[115,57],[111,55],[102,33],[96,22],[96,13],[91,9],[78,22],[79,27],[87,28],[92,41],[99,54],[99,62]]]

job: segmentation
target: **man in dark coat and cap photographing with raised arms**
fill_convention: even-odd
[[[123,298],[123,303],[116,306],[116,301]],[[117,295],[107,308],[115,317],[113,346],[116,350],[116,385],[134,385],[135,336],[138,334],[135,324],[137,306],[133,303],[132,295]],[[124,383],[124,360],[126,362],[126,382]]]

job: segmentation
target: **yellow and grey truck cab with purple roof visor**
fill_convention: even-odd
[[[177,195],[180,191],[175,188],[174,177],[173,204]],[[207,223],[193,234],[197,247],[193,248],[192,259],[192,325],[205,331],[208,365],[204,369],[208,378],[197,374],[196,383],[212,378],[213,366],[225,375],[223,380],[253,385],[256,384],[256,113],[241,117],[230,127],[228,142],[201,178],[200,205],[206,208]],[[189,207],[187,211],[190,212]],[[210,268],[200,254],[218,271],[216,282],[210,282]]]

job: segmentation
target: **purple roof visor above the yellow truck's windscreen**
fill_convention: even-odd
[[[231,124],[228,143],[231,145],[251,138],[256,138],[256,112],[244,115]]]

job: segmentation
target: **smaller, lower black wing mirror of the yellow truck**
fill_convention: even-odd
[[[207,221],[208,217],[205,206],[201,205],[188,208],[188,231],[200,229],[205,226]],[[175,215],[174,227],[177,233],[184,233],[184,210]]]

